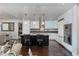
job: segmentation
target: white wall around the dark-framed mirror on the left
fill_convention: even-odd
[[[2,22],[14,22],[14,31],[1,31],[1,23]],[[21,20],[17,19],[10,19],[10,20],[1,20],[0,19],[0,33],[9,33],[12,39],[18,39],[18,22],[22,22]]]

